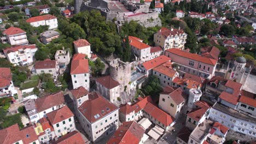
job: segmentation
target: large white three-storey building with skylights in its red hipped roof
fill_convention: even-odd
[[[98,92],[90,93],[89,99],[78,108],[78,119],[89,140],[93,142],[119,127],[118,107]]]

